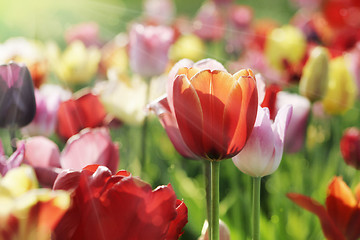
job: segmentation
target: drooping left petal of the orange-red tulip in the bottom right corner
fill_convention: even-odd
[[[286,196],[300,207],[314,213],[319,217],[321,227],[327,239],[346,240],[337,225],[333,222],[332,218],[327,213],[324,206],[320,205],[317,201],[301,194],[288,193]]]

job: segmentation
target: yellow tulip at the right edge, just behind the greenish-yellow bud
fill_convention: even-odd
[[[347,69],[344,57],[332,59],[327,92],[322,100],[324,110],[329,114],[343,114],[353,107],[356,96],[355,80]]]

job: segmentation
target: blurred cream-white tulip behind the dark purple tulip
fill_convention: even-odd
[[[48,63],[43,46],[39,42],[22,37],[10,38],[0,45],[0,53],[0,63],[15,61],[25,64],[35,88],[44,83]]]

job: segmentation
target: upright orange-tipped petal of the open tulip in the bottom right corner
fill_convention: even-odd
[[[351,189],[341,177],[334,177],[328,187],[326,208],[329,216],[343,233],[355,206],[356,200]]]

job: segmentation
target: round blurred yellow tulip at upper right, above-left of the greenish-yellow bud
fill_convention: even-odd
[[[284,69],[284,61],[298,64],[305,56],[305,36],[293,26],[275,28],[266,39],[265,56],[276,69]]]

